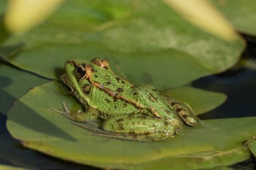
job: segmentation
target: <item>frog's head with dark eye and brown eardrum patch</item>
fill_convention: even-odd
[[[106,59],[94,58],[92,61],[84,59],[69,59],[65,63],[63,82],[71,88],[73,94],[82,104],[90,105],[93,89],[100,89],[100,83],[93,81],[96,76],[101,76],[104,70],[109,69],[109,62]]]

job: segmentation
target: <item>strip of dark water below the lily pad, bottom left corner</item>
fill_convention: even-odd
[[[73,164],[46,156],[34,150],[23,147],[20,141],[10,134],[0,134],[0,160],[17,167],[33,169],[93,169],[85,165]],[[2,167],[0,165],[0,169]]]

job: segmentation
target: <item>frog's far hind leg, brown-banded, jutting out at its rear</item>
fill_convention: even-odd
[[[185,104],[174,98],[166,97],[168,103],[175,109],[179,117],[189,126],[197,126],[199,124],[199,118],[192,111],[188,104]]]

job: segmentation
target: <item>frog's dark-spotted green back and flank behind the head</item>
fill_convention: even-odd
[[[101,82],[102,80],[103,78]],[[102,96],[96,97],[97,99],[105,97],[106,102],[102,103],[99,100],[97,103],[97,109],[105,115],[104,117],[143,112],[161,118],[163,112],[167,110],[171,112],[167,101],[153,86],[135,87],[119,76],[106,80],[101,86],[111,90],[114,96],[99,94]]]

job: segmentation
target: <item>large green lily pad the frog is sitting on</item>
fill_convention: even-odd
[[[256,133],[256,117],[201,121],[195,128],[186,126],[176,137],[158,142],[124,141],[85,135],[91,132],[47,109],[63,110],[61,101],[72,111],[81,109],[68,91],[56,81],[30,90],[8,112],[11,135],[24,146],[45,154],[113,169],[213,168],[250,156],[242,142]],[[195,103],[194,107],[201,105]]]

